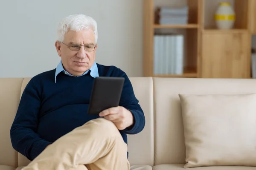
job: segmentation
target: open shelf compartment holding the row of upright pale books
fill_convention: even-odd
[[[158,31],[158,33],[157,33]],[[162,32],[160,32],[162,31]],[[187,69],[187,68],[197,68],[198,65],[198,29],[167,29],[164,33],[164,30],[155,30],[155,36],[159,36],[160,39],[154,38],[154,48],[153,48],[153,70],[151,74],[155,75],[156,77],[197,77],[197,70],[196,69]],[[162,34],[161,34],[162,33]],[[171,39],[161,39],[165,36],[169,36]],[[174,37],[172,37],[172,35]],[[181,45],[179,39],[175,42],[175,36],[183,37],[183,44],[182,48],[178,47],[177,45]],[[156,37],[157,38],[157,37]],[[176,39],[177,40],[177,39]],[[160,43],[157,45],[157,43]],[[166,44],[169,43],[169,44]],[[178,43],[178,44],[173,44]],[[156,45],[156,46],[155,46]],[[157,47],[157,48],[155,48]],[[166,48],[171,48],[167,50]],[[183,51],[182,56],[182,65],[180,65],[180,50]],[[177,54],[173,54],[172,51],[177,50]],[[164,51],[164,56],[161,52]],[[166,56],[166,54],[169,55]],[[175,56],[176,55],[176,56]],[[179,71],[178,68],[183,68],[183,71]],[[166,70],[167,69],[167,70]],[[177,70],[176,70],[177,69]],[[175,71],[174,71],[175,70]],[[176,74],[174,74],[176,73]],[[183,74],[177,74],[183,73]]]

